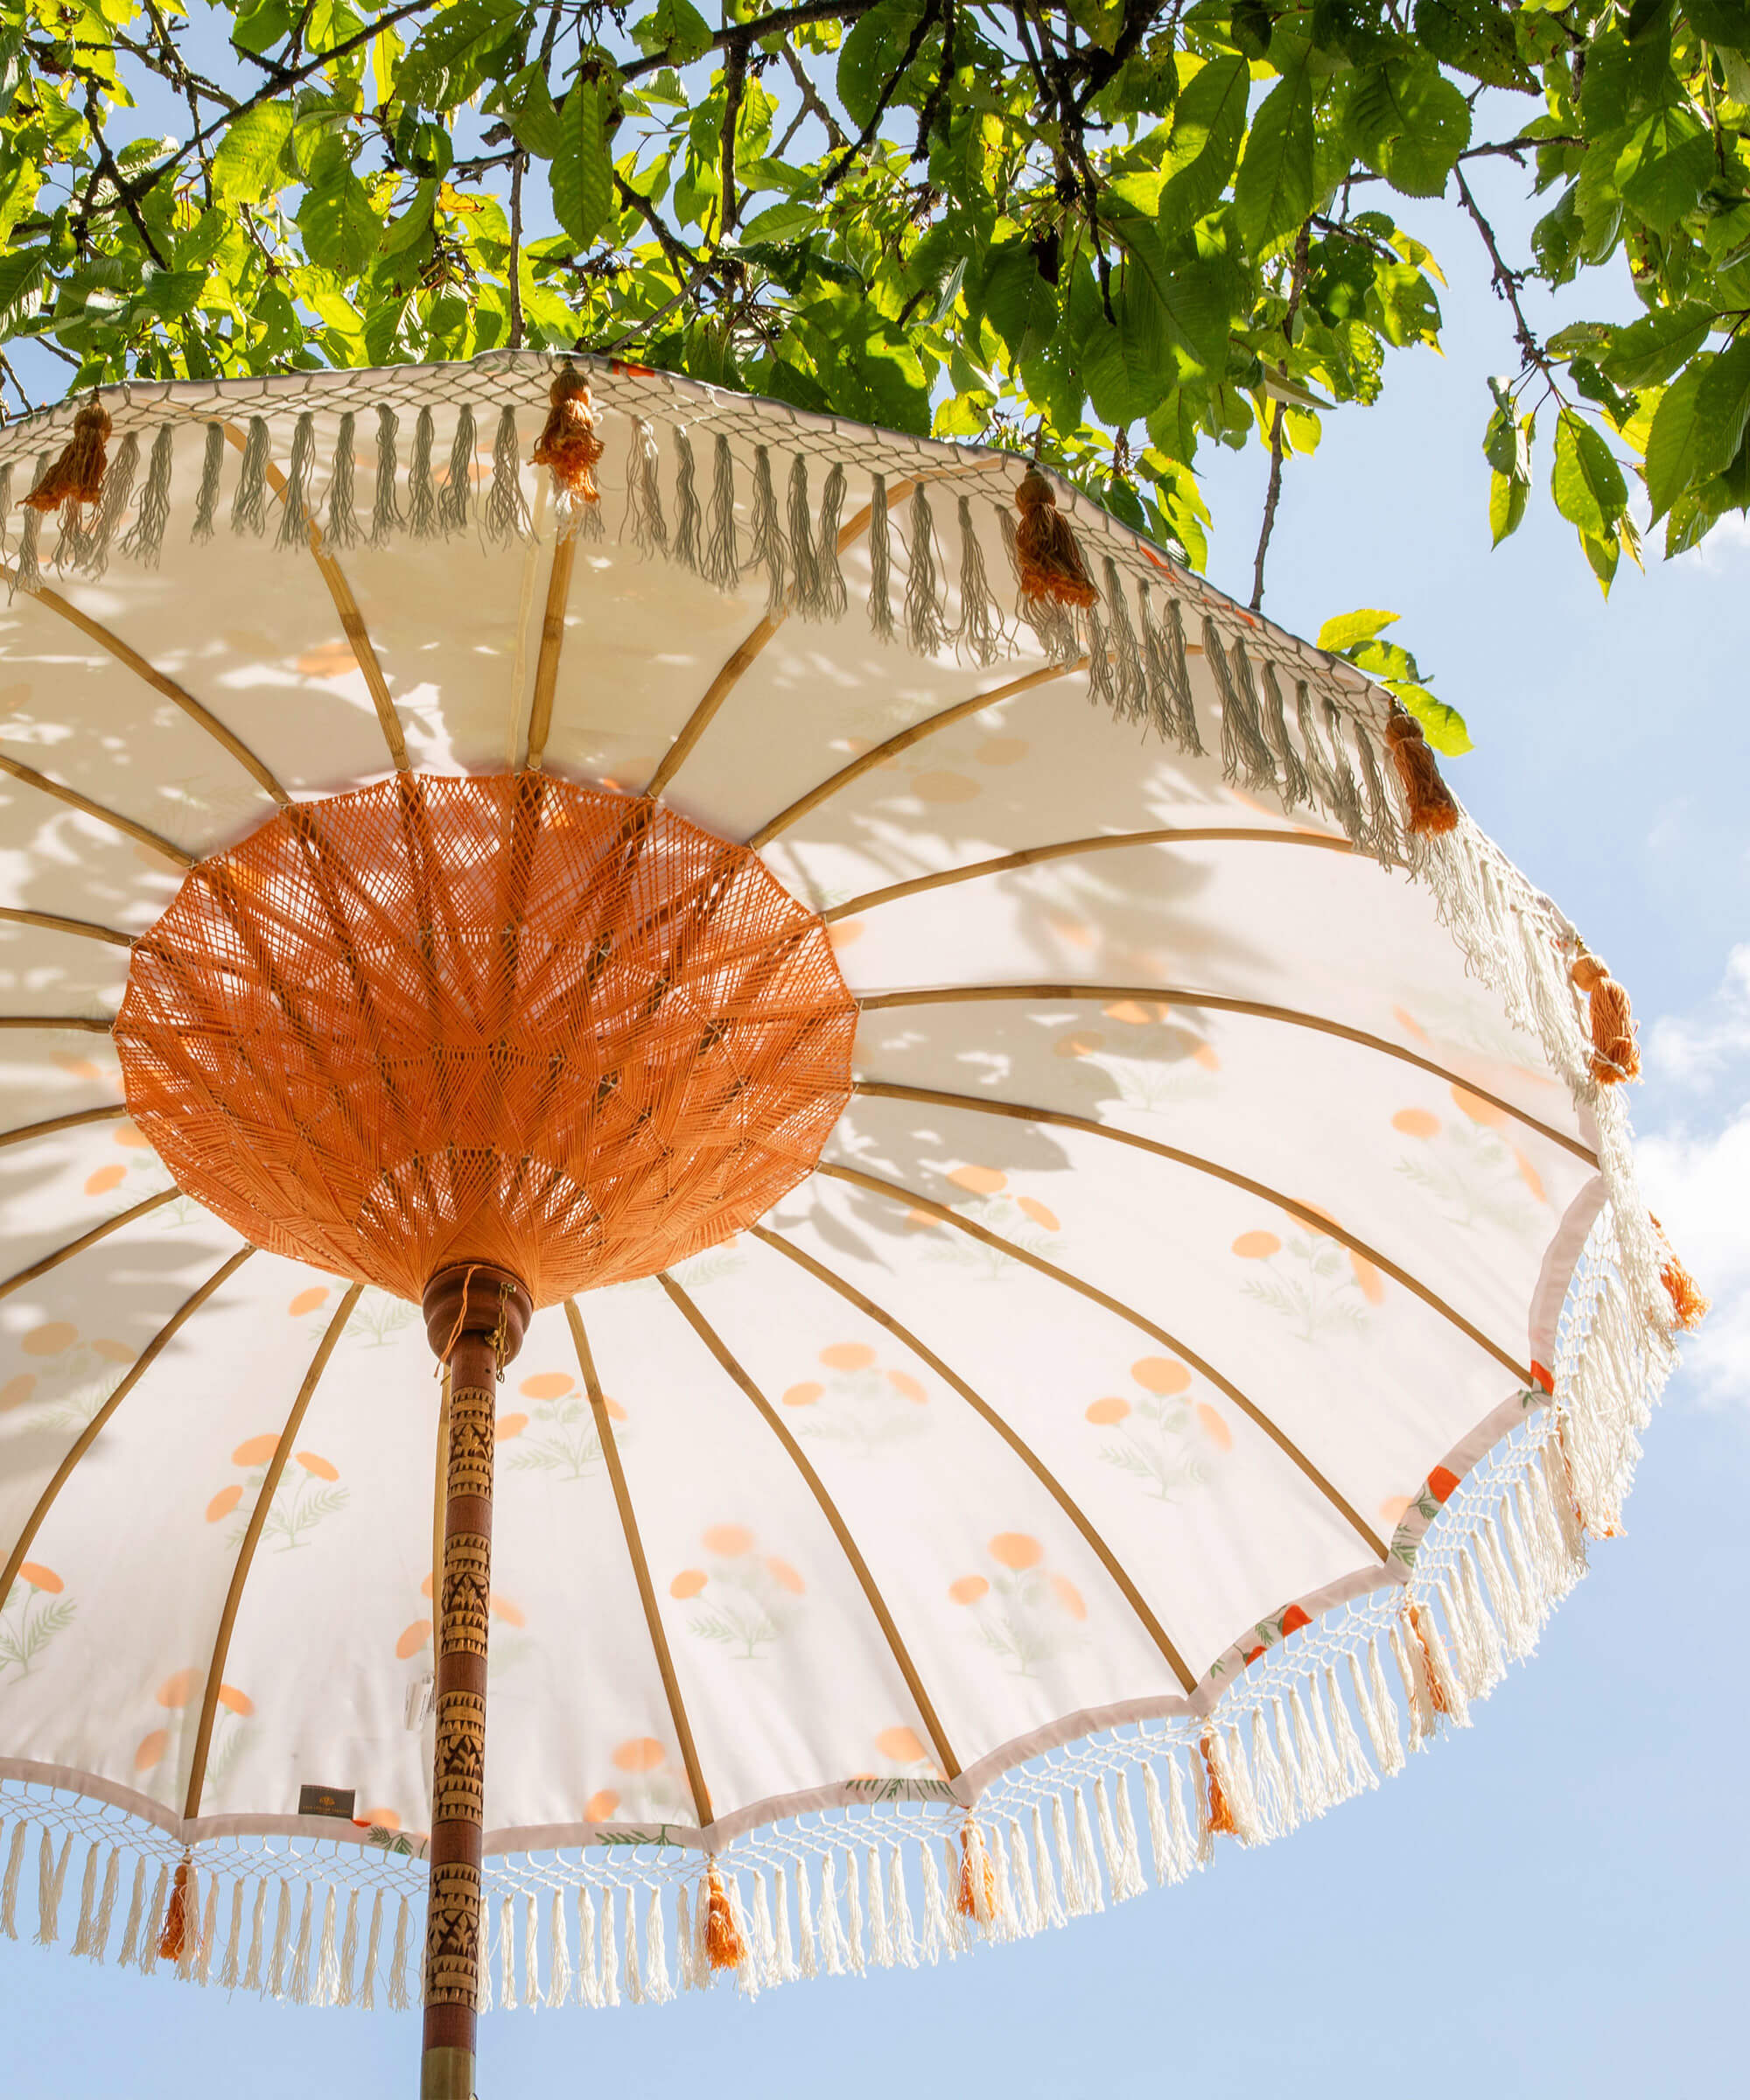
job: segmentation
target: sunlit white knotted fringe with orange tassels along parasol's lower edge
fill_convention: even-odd
[[[1584,1573],[1571,1424],[1618,1407],[1632,1376],[1590,1346],[1613,1287],[1601,1247],[1582,1277],[1588,1334],[1565,1338],[1569,1420],[1536,1409],[1458,1485],[1401,1586],[1269,1648],[1208,1714],[1029,1760],[971,1806],[840,1810],[761,1827],[710,1858],[681,1846],[492,1856],[481,2010],[662,2003],[712,1984],[754,1995],[954,1959],[1183,1882],[1221,1840],[1267,1844],[1374,1789],[1408,1751],[1468,1724]],[[0,1787],[0,1932],[42,1945],[71,1932],[76,1955],[227,1991],[414,2001],[422,1871],[351,1848],[345,1861],[223,1840],[183,1850]],[[714,1888],[733,1926],[716,1938]]]

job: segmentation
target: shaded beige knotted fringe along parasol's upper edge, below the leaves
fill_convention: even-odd
[[[174,433],[206,430],[200,483],[191,510],[183,504],[193,540],[212,538],[229,523],[237,536],[269,538],[279,550],[298,552],[319,544],[345,554],[368,542],[389,546],[401,538],[445,540],[477,536],[506,544],[536,536],[529,491],[523,483],[525,443],[517,410],[534,414],[542,405],[540,382],[567,359],[492,357],[464,365],[426,368],[426,380],[384,393],[384,374],[370,374],[374,391],[353,384],[353,374],[305,374],[296,384],[214,382],[120,386],[103,391],[116,433],[105,470],[105,494],[95,517],[78,512],[61,531],[53,552],[44,550],[44,527],[36,512],[13,519],[13,500],[42,479],[57,439],[69,424],[74,403],[29,418],[0,439],[0,554],[15,556],[11,588],[40,588],[46,573],[101,575],[120,548],[132,561],[153,567],[166,533],[176,523],[172,504]],[[586,376],[603,388],[603,414],[613,414],[616,439],[624,449],[624,517],[620,544],[637,546],[735,588],[763,575],[769,611],[800,620],[840,620],[849,594],[838,567],[836,531],[845,502],[845,472],[855,466],[874,481],[870,556],[874,567],[868,617],[880,638],[897,638],[933,655],[952,647],[962,659],[992,664],[1015,653],[1021,626],[1032,626],[1050,659],[1090,657],[1095,697],[1124,720],[1153,727],[1181,750],[1200,752],[1195,706],[1185,680],[1183,628],[1216,624],[1229,651],[1237,649],[1239,693],[1250,689],[1250,659],[1277,666],[1290,687],[1311,685],[1330,718],[1330,733],[1342,743],[1338,716],[1361,748],[1363,773],[1374,771],[1366,748],[1378,739],[1382,695],[1324,651],[1242,613],[1206,580],[1151,548],[1130,527],[1082,500],[1069,483],[1050,477],[1065,510],[1092,546],[1092,567],[1103,596],[1082,615],[1057,605],[1023,605],[1011,596],[998,603],[973,523],[973,500],[998,512],[1013,565],[1013,500],[1025,462],[994,447],[945,445],[870,433],[834,418],[809,418],[786,403],[725,395],[643,368],[607,368],[578,359]],[[506,401],[515,380],[517,399]],[[483,384],[492,382],[492,384]],[[300,401],[315,405],[300,405]],[[435,407],[454,407],[447,443],[439,441]],[[691,412],[691,414],[689,414]],[[284,435],[290,416],[290,439]],[[332,445],[317,441],[317,416],[334,418]],[[674,452],[664,514],[658,464],[658,428]],[[735,445],[731,445],[731,435]],[[134,477],[149,445],[139,498]],[[42,447],[38,452],[38,447]],[[737,452],[739,447],[739,452]],[[361,460],[366,449],[372,458]],[[284,468],[277,458],[284,452]],[[702,454],[708,452],[706,460]],[[815,498],[809,462],[826,466]],[[34,464],[32,464],[34,462]],[[21,472],[23,470],[23,472]],[[742,479],[746,521],[735,519],[735,479]],[[710,479],[710,496],[702,483]],[[905,514],[887,514],[889,483],[912,483]],[[134,500],[132,523],[124,527]],[[943,517],[931,514],[933,500]],[[817,508],[815,508],[817,504]],[[561,498],[555,529],[586,540],[605,540],[603,508]],[[956,529],[958,527],[958,529]],[[13,538],[17,533],[17,546]],[[899,542],[901,569],[895,578],[891,542]],[[956,546],[958,542],[958,546]],[[893,582],[903,584],[903,603],[893,605]],[[950,620],[950,607],[958,617]],[[1172,605],[1176,636],[1153,634],[1162,617],[1155,607]],[[1250,645],[1250,655],[1248,655]],[[1225,680],[1225,657],[1216,664]],[[1275,674],[1271,674],[1275,676]],[[1305,773],[1288,748],[1286,731],[1271,724],[1252,729],[1250,714],[1227,710],[1225,737],[1237,727],[1244,771],[1263,783],[1261,764],[1273,752],[1279,760],[1269,779],[1279,783],[1290,804],[1307,800]],[[1256,701],[1250,704],[1256,708]],[[1279,708],[1277,708],[1279,714]],[[1303,739],[1307,731],[1303,724]],[[1229,777],[1239,777],[1229,764]],[[1315,773],[1311,785],[1317,790]],[[1395,834],[1382,804],[1366,815],[1338,798],[1315,794],[1313,806],[1345,823],[1357,844],[1382,857],[1395,855]]]

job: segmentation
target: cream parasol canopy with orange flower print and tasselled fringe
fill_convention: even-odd
[[[748,1989],[1179,1880],[1464,1720],[1616,1525],[1668,1256],[1571,928],[1405,834],[1387,695],[1069,491],[1040,632],[1025,462],[639,370],[565,517],[548,378],[122,388],[59,569],[69,412],[0,439],[6,1930],[149,1968],[187,1848],[185,1972],[408,1989],[418,1310],[179,1195],[107,1035],[193,861],[397,764],[660,792],[861,1004],[817,1170],[502,1388],[500,1999],[708,1980],[706,1854]]]

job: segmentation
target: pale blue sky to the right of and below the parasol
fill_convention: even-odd
[[[1523,178],[1483,193],[1523,239]],[[1634,1115],[1664,1216],[1721,1300],[1647,1434],[1628,1537],[1477,1726],[1256,1854],[943,1970],[668,2008],[483,2022],[481,2092],[761,2100],[1158,2094],[1300,2100],[1691,2094],[1742,2077],[1750,1869],[1739,1659],[1750,1483],[1750,529],[1620,578],[1605,605],[1538,504],[1492,554],[1485,374],[1511,370],[1475,233],[1408,212],[1454,281],[1447,355],[1328,420],[1290,468],[1267,611],[1300,632],[1391,607],[1477,752],[1450,777],[1634,995]],[[1618,294],[1626,298],[1626,286]],[[1567,296],[1561,317],[1603,311]],[[1212,569],[1246,594],[1263,462],[1216,462]],[[29,1909],[29,1905],[21,1905]],[[414,2016],[231,2003],[0,1942],[27,2100],[414,2092]]]

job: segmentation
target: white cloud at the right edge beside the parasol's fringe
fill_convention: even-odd
[[[1750,943],[1718,991],[1647,1029],[1676,1119],[1634,1147],[1641,1184],[1714,1310],[1685,1342],[1710,1401],[1750,1407]]]

